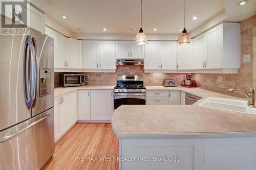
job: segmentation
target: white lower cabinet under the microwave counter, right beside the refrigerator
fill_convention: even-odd
[[[54,139],[55,142],[77,121],[77,91],[54,99]]]

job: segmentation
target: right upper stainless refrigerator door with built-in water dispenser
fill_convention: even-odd
[[[54,106],[54,42],[53,38],[31,29],[35,57],[35,94],[32,116]]]

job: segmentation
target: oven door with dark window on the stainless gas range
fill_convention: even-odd
[[[114,108],[121,105],[145,105],[145,93],[115,93]]]

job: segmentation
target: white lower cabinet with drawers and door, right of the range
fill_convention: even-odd
[[[147,90],[147,105],[180,105],[180,90]]]

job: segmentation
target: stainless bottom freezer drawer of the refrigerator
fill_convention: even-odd
[[[40,169],[54,153],[54,109],[0,132],[0,169]]]

